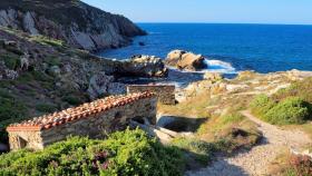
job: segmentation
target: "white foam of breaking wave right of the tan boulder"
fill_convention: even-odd
[[[236,74],[236,69],[228,62],[222,60],[205,59],[207,69],[204,72],[221,72],[221,74]]]

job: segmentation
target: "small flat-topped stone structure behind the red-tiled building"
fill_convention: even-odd
[[[127,92],[144,92],[150,91],[156,94],[158,101],[164,105],[175,105],[175,86],[174,85],[129,85]]]

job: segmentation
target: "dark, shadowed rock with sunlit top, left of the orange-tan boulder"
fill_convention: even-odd
[[[155,56],[138,55],[126,60],[121,65],[123,76],[137,77],[167,77],[168,69],[160,58]]]

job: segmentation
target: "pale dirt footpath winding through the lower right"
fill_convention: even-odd
[[[238,153],[230,158],[217,158],[211,166],[197,172],[188,172],[186,176],[244,176],[267,175],[267,166],[283,149],[300,148],[311,144],[311,139],[300,130],[283,130],[276,126],[263,123],[250,111],[242,115],[257,124],[263,133],[263,140],[251,150]]]

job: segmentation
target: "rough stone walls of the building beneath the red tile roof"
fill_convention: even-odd
[[[111,102],[113,105],[114,102]],[[52,127],[12,126],[8,127],[10,149],[20,148],[42,149],[47,145],[66,139],[68,136],[88,136],[90,138],[104,138],[115,130],[125,129],[129,119],[147,119],[156,124],[157,97],[149,96],[137,98],[131,102],[99,111],[76,120],[55,124]]]

